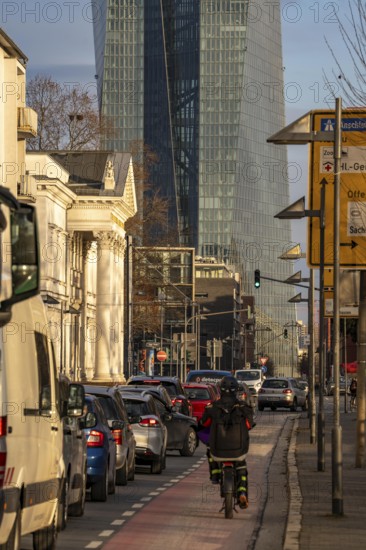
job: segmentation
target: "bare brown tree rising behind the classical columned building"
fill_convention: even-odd
[[[27,104],[38,113],[38,135],[27,140],[31,150],[98,149],[101,137],[111,134],[87,92],[62,86],[49,76],[37,75],[28,82]]]

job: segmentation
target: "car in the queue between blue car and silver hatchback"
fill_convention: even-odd
[[[84,387],[87,393],[100,398],[116,443],[116,484],[127,485],[127,481],[132,481],[135,476],[136,440],[122,396],[116,387],[91,385]]]

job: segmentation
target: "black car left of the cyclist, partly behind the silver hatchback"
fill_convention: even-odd
[[[198,445],[197,422],[191,416],[177,412],[163,386],[124,386],[125,391],[152,395],[167,432],[167,449],[182,456],[193,456]],[[128,389],[130,388],[130,390]]]

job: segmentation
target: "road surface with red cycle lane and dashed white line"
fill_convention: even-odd
[[[167,468],[160,475],[138,467],[135,481],[117,487],[107,502],[88,501],[82,518],[69,518],[57,549],[108,550],[127,543],[131,550],[135,544],[140,549],[192,550],[204,524],[204,532],[218,532],[220,538],[215,538],[214,546],[203,538],[200,550],[281,550],[288,508],[286,451],[292,421],[299,414],[285,410],[258,414],[247,458],[250,506],[234,515],[234,520],[225,520],[220,513],[221,500],[209,483],[206,448],[201,444],[193,457],[169,453]],[[154,514],[154,522],[146,521],[149,514]],[[32,549],[31,536],[23,537],[21,548]]]

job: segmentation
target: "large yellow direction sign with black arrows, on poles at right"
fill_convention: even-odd
[[[309,209],[320,210],[321,186],[325,185],[324,265],[333,265],[334,240],[334,111],[313,111],[312,130],[329,132],[328,141],[311,143]],[[366,268],[366,109],[342,112],[340,185],[340,253],[342,268]],[[322,134],[323,135],[323,134]],[[310,266],[320,264],[320,220],[309,217]]]

